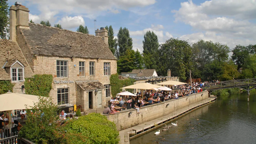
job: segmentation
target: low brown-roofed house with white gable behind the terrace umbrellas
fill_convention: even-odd
[[[133,69],[131,73],[121,73],[124,77],[157,77],[155,69]]]

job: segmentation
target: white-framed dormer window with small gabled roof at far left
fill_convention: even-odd
[[[24,81],[24,65],[17,59],[6,61],[3,68],[10,68],[12,82]]]

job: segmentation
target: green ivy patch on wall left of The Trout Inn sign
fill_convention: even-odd
[[[25,78],[25,92],[29,95],[49,97],[52,89],[52,75],[34,75],[34,78]]]

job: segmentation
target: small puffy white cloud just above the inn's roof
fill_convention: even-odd
[[[79,25],[84,25],[84,20],[81,16],[66,16],[62,17],[58,23],[61,24],[61,26],[65,29],[71,29],[79,27]]]

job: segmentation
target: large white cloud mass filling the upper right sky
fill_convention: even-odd
[[[179,10],[172,12],[175,13],[176,22],[184,22],[199,31],[183,35],[181,39],[191,42],[212,40],[227,44],[230,48],[236,44],[256,42],[256,25],[249,21],[256,18],[255,0],[211,0],[200,5],[189,0],[181,3]]]

